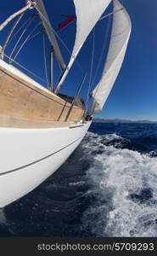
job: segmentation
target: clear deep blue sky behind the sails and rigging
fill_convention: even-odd
[[[64,20],[61,16],[62,14],[75,14],[75,8],[72,0],[45,0],[44,2],[46,4],[50,20],[53,24],[53,28],[56,30],[59,22]],[[121,73],[115,82],[115,86],[109,95],[103,111],[95,115],[95,117],[106,119],[119,118],[157,120],[157,1],[124,0],[121,1],[121,3],[122,2],[124,3],[124,6],[132,20],[132,35],[126,52],[126,58],[121,68]],[[24,4],[24,0],[3,1],[1,3],[0,22],[2,23],[8,15],[11,15],[14,11],[22,8]],[[110,9],[111,6],[109,6],[106,13],[108,13]],[[24,20],[26,20],[28,15],[31,13],[32,11],[28,11]],[[36,22],[37,19],[33,21],[31,29],[36,25]],[[8,25],[6,30],[1,32],[0,44],[3,44],[6,33],[12,24]],[[97,40],[95,43],[93,70],[96,69],[98,64],[98,57],[103,46],[107,24],[108,20],[103,20],[98,23],[95,30]],[[40,30],[39,28],[36,29],[36,32]],[[64,40],[64,43],[70,50],[72,50],[75,41],[75,33],[76,22],[67,26],[62,31],[59,31],[59,37]],[[19,35],[14,38],[12,42],[13,44],[18,37]],[[13,48],[13,44],[8,46],[6,54],[10,53],[10,50]],[[59,45],[63,52],[65,62],[68,63],[70,55],[60,43]],[[87,42],[83,46],[81,53],[77,58],[77,61],[79,61],[84,71],[83,73],[88,73],[87,81],[81,90],[81,96],[87,95],[92,45],[93,32],[87,38]],[[49,49],[50,45],[48,40],[46,40],[46,46],[47,49]],[[106,50],[107,46],[108,44],[106,44]],[[106,52],[104,53],[104,56],[105,54]],[[42,35],[36,36],[35,39],[26,44],[16,60],[44,78]],[[96,82],[100,77],[102,68],[103,66],[99,69]],[[54,61],[54,84],[59,78],[59,73],[60,70],[58,64]],[[81,82],[83,73],[77,64],[75,64],[64,83],[62,92],[75,95],[76,88]]]

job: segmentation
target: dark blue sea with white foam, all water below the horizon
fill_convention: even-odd
[[[93,123],[70,158],[0,209],[0,236],[157,236],[157,125]]]

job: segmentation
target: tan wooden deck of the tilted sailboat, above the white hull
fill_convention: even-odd
[[[2,62],[1,62],[2,63]],[[4,63],[4,61],[3,61]],[[51,125],[64,124],[70,103],[65,102],[59,96],[54,95],[42,86],[31,83],[31,79],[25,79],[13,67],[10,71],[8,65],[0,65],[0,126],[18,124],[25,127],[50,127]],[[23,74],[23,73],[21,73]],[[33,80],[34,81],[34,80]],[[67,122],[82,119],[84,110],[74,106]],[[30,120],[31,122],[29,122]]]

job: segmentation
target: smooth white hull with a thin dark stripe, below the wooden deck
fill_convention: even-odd
[[[55,172],[81,143],[90,125],[0,128],[0,207],[26,195]]]

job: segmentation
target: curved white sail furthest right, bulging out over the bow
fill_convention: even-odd
[[[126,47],[130,38],[132,24],[126,9],[121,9],[122,5],[118,0],[114,0],[113,25],[109,52],[104,67],[102,78],[93,90],[93,107],[91,113],[98,113],[102,110],[110,90],[115,84],[115,79],[120,72],[122,62],[126,54]]]

